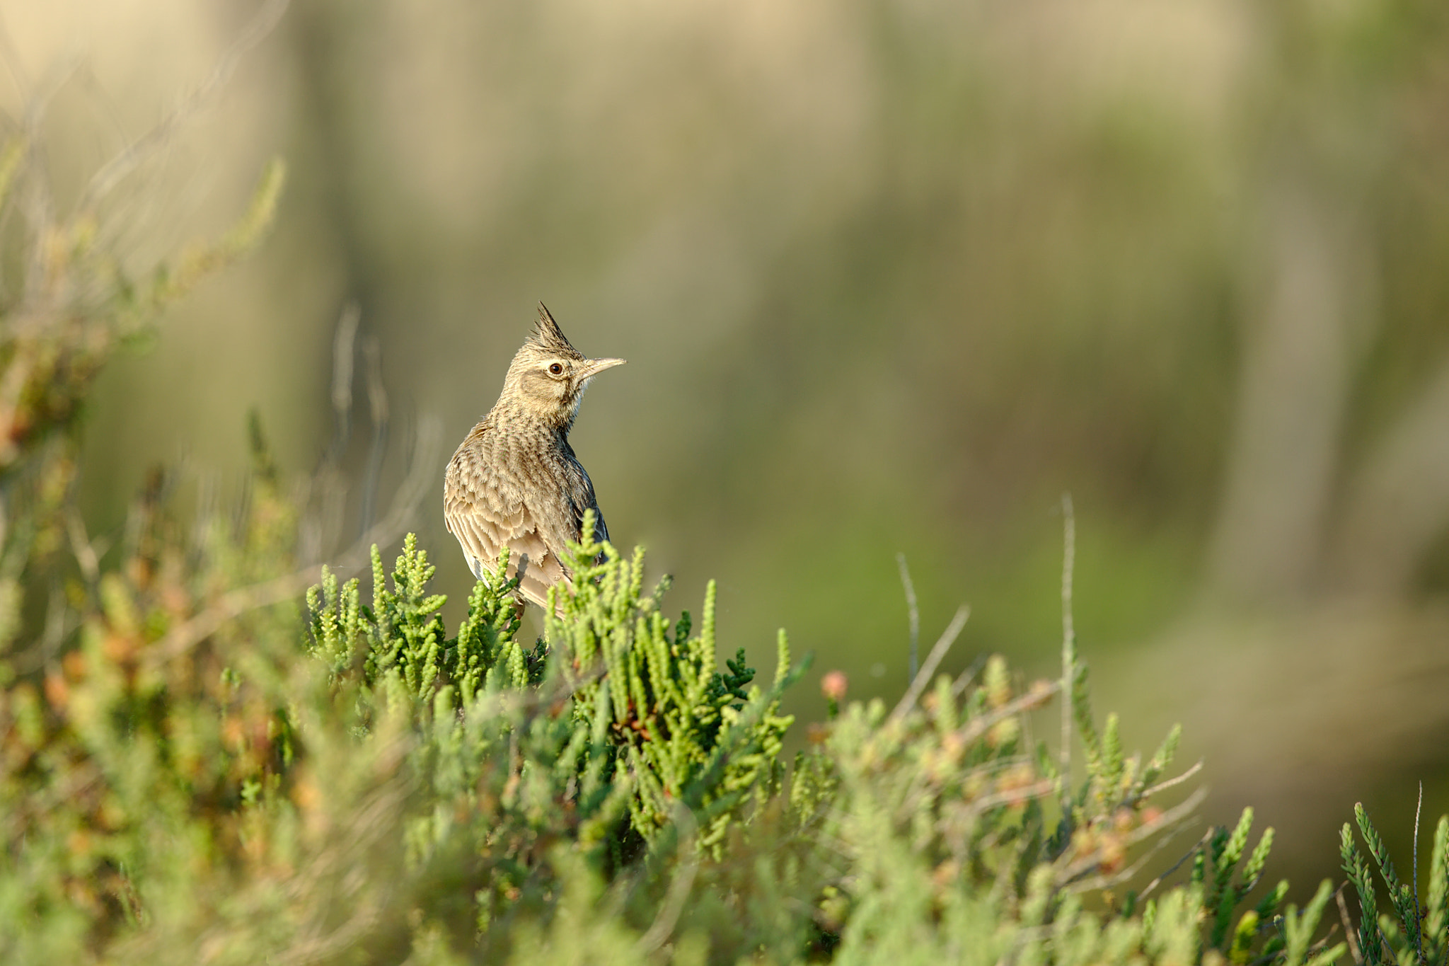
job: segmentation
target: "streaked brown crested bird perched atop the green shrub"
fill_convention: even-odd
[[[507,576],[520,576],[520,613],[523,601],[546,608],[551,587],[572,585],[565,553],[582,534],[585,510],[594,511],[594,540],[609,540],[594,482],[568,432],[590,381],[623,364],[580,353],[539,303],[538,323],[509,364],[498,401],[448,461],[448,532],[478,579],[509,547]]]

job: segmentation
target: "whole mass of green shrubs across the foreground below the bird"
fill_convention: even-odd
[[[254,211],[274,197],[268,178]],[[84,290],[93,265],[64,271]],[[161,301],[130,297],[112,295]],[[93,372],[123,316],[64,304],[112,336]],[[0,322],[25,320],[35,348],[12,361],[71,345],[48,316]],[[42,479],[74,462],[88,387],[55,388],[65,404],[32,404],[13,437],[14,466]],[[577,582],[526,647],[506,556],[452,637],[413,534],[390,572],[372,545],[371,604],[356,578],[300,565],[309,488],[284,484],[259,420],[238,510],[184,523],[158,475],[113,549],[87,539],[68,485],[13,498],[25,484],[3,481],[6,553],[25,560],[0,600],[6,962],[1303,966],[1340,952],[1310,944],[1327,885],[1301,914],[1284,886],[1242,908],[1271,841],[1245,860],[1250,814],[1190,853],[1185,882],[1116,898],[1155,854],[1133,850],[1201,797],[1155,804],[1181,781],[1161,781],[1178,731],[1127,757],[1116,717],[1095,724],[1069,629],[1061,684],[1022,688],[1001,658],[932,682],[961,621],[891,711],[846,702],[836,672],[830,718],[787,768],[778,708],[803,669],[784,634],[769,689],[743,652],[720,671],[714,587],[691,633],[664,617],[668,581],[643,592],[642,552],[574,547]],[[36,536],[61,526],[64,540]],[[48,588],[30,621],[28,595]],[[1053,756],[1032,711],[1062,685]]]

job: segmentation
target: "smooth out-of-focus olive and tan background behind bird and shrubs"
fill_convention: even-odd
[[[1397,849],[1419,781],[1426,815],[1449,810],[1442,3],[3,0],[0,20],[0,107],[43,136],[62,209],[164,125],[104,201],[132,264],[290,168],[265,248],[106,374],[94,530],[156,462],[236,484],[252,408],[294,472],[342,453],[352,536],[427,420],[440,497],[543,300],[582,352],[629,359],[574,433],[610,530],[675,576],[675,608],[717,578],[723,642],[756,666],[780,626],[813,650],[797,714],[833,668],[852,697],[901,692],[898,552],[923,652],[968,601],[948,671],[994,650],[1053,673],[1069,491],[1098,713],[1146,749],[1182,721],[1210,818],[1256,805],[1301,894],[1355,801]],[[416,526],[456,617],[440,498]]]

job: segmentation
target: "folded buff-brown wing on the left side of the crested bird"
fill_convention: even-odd
[[[474,576],[498,559],[509,547],[509,576],[514,576],[519,560],[527,565],[519,591],[539,607],[548,601],[548,588],[568,582],[568,571],[549,547],[539,521],[525,505],[523,494],[509,487],[475,453],[459,450],[448,465],[448,485],[443,488],[443,520],[448,532],[458,537]]]

